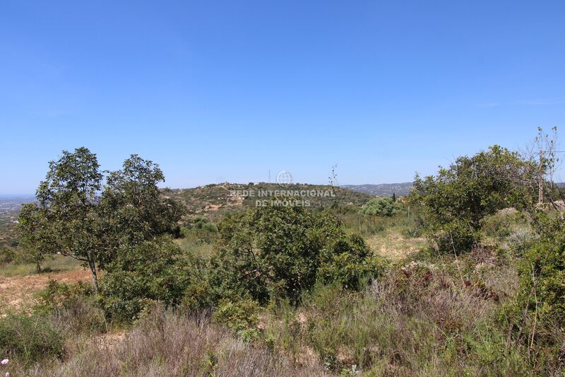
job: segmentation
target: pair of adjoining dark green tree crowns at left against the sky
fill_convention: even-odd
[[[90,268],[104,268],[124,245],[168,233],[184,214],[181,204],[162,198],[165,180],[151,161],[132,155],[107,183],[96,155],[86,148],[63,151],[37,188],[37,202],[23,207],[18,231],[40,268],[44,255],[61,253]]]

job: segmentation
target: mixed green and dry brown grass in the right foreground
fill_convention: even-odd
[[[320,286],[301,307],[275,310],[266,332],[290,357],[314,354],[335,373],[523,373],[521,350],[507,349],[494,325],[500,304],[518,289],[516,270],[477,257],[408,263],[362,293]]]

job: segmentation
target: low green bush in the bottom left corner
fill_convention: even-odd
[[[0,318],[0,354],[20,364],[60,357],[63,335],[37,315],[7,315]]]

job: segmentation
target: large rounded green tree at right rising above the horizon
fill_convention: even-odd
[[[457,158],[436,176],[415,177],[409,202],[419,207],[427,235],[443,253],[472,248],[482,219],[499,209],[523,207],[533,200],[532,164],[516,152],[492,146],[475,156]]]

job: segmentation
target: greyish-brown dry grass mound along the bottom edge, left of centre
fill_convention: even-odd
[[[108,338],[108,339],[107,339]],[[205,316],[156,310],[127,335],[76,345],[66,361],[37,365],[26,376],[323,376],[268,349],[235,339]]]

